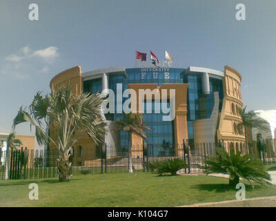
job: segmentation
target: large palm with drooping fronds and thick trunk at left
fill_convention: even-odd
[[[106,124],[101,118],[99,94],[81,93],[72,95],[69,84],[56,93],[42,96],[38,92],[34,96],[28,110],[20,108],[14,118],[13,128],[23,122],[34,126],[39,144],[52,144],[59,153],[59,181],[71,180],[72,162],[69,158],[72,146],[77,142],[75,132],[87,134],[92,142],[100,144],[106,134]],[[50,128],[50,135],[46,133]]]

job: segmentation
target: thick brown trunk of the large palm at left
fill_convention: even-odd
[[[72,163],[69,156],[66,154],[61,155],[58,161],[59,182],[70,181],[72,178],[71,167]]]

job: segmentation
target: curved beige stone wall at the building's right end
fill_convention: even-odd
[[[237,70],[230,66],[224,67],[224,102],[222,105],[217,139],[224,140],[227,148],[230,145],[241,146],[245,143],[245,131],[239,133],[237,125],[242,123],[242,117],[237,113],[237,108],[242,108],[242,77]],[[233,143],[233,144],[232,144]]]

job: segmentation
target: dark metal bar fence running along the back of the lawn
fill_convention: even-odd
[[[262,150],[257,147],[257,142],[233,146],[224,141],[219,141],[217,144],[193,144],[187,140],[177,146],[173,144],[132,146],[132,170],[149,171],[150,162],[179,158],[188,164],[188,167],[179,173],[201,173],[204,160],[210,155],[215,155],[217,147],[224,148],[228,152],[234,148],[235,151],[241,151],[243,154],[255,155],[264,164],[276,164],[275,144],[276,140],[266,140]],[[36,180],[58,176],[59,153],[57,151],[21,149],[0,154],[0,180]],[[117,149],[114,146],[103,146],[96,150],[93,148],[75,150],[70,157],[70,162],[72,162],[72,175],[128,172],[128,147]]]

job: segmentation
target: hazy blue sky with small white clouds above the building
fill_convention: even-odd
[[[30,21],[31,3],[39,20]],[[238,3],[246,20],[236,19]],[[59,0],[0,1],[0,133],[10,133],[20,106],[50,93],[50,79],[63,70],[135,67],[135,50],[152,50],[172,67],[200,66],[242,75],[249,110],[276,107],[275,0]],[[30,135],[28,124],[18,134]]]

